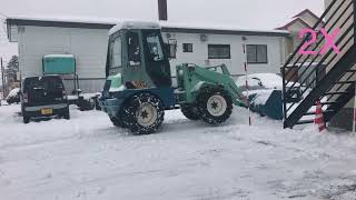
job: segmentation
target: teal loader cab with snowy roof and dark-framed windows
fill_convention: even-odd
[[[171,87],[169,59],[174,53],[164,43],[160,26],[152,22],[122,22],[110,30],[106,73],[120,73],[127,89]]]

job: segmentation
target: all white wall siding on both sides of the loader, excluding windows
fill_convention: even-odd
[[[198,66],[217,66],[225,63],[235,76],[244,74],[243,43],[267,44],[268,63],[249,64],[249,72],[279,73],[286,57],[286,38],[271,36],[207,34],[208,40],[201,41],[200,33],[174,33],[176,39],[177,59],[172,59],[171,72],[176,76],[176,66],[182,62]],[[167,32],[164,32],[167,41]],[[194,52],[182,52],[182,43],[192,43]],[[208,59],[208,44],[230,44],[231,59]],[[41,76],[42,58],[46,54],[70,53],[76,57],[79,86],[83,92],[97,92],[105,82],[105,66],[108,46],[108,30],[56,28],[56,27],[19,27],[19,56],[21,77]],[[71,91],[72,76],[63,76],[67,90]]]

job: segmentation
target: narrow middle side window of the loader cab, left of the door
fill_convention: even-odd
[[[129,56],[129,63],[130,66],[140,66],[141,58],[140,58],[140,42],[139,36],[137,32],[129,32],[128,38],[128,56]]]

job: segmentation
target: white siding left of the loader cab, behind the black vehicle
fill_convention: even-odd
[[[21,77],[41,76],[46,54],[73,54],[82,91],[100,91],[105,82],[108,31],[99,29],[19,27]],[[72,79],[63,76],[63,79]],[[95,80],[91,80],[95,79]],[[97,82],[93,84],[92,82]],[[72,81],[65,81],[72,91]],[[98,87],[97,87],[98,84]]]

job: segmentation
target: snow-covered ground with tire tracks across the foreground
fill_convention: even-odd
[[[166,113],[159,133],[131,136],[99,111],[23,124],[0,107],[2,200],[354,200],[356,139],[235,108],[224,126]]]

